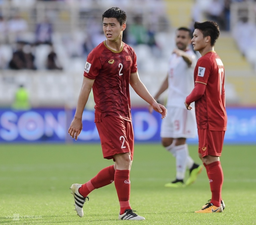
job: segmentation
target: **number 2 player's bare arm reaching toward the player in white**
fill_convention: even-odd
[[[146,102],[153,107],[155,111],[162,114],[162,119],[165,118],[167,109],[165,106],[156,102],[156,100],[149,94],[145,85],[140,81],[138,72],[131,73],[130,76],[130,85],[133,90]]]

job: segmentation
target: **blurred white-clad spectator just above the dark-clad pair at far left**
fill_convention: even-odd
[[[21,41],[27,29],[27,21],[16,14],[8,21],[9,42]]]

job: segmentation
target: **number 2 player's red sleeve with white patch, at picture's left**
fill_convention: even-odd
[[[87,61],[84,67],[84,77],[90,80],[95,80],[101,69],[101,61],[99,57],[92,52],[88,55]]]

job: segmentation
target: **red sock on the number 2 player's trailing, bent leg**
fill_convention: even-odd
[[[85,184],[82,184],[82,187],[79,188],[80,195],[86,197],[94,189],[98,189],[100,187],[111,184],[114,181],[114,176],[114,165],[102,169],[96,176],[94,176],[94,178]]]

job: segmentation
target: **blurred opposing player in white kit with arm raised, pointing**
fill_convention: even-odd
[[[168,89],[168,114],[162,121],[160,135],[163,146],[176,158],[176,179],[165,184],[165,187],[184,187],[192,184],[203,168],[189,156],[186,144],[186,138],[195,137],[196,132],[195,107],[187,110],[184,106],[184,99],[194,88],[194,68],[197,63],[197,56],[189,49],[190,30],[186,27],[178,28],[175,42],[177,49],[173,50],[169,59],[166,79],[154,97],[157,100]],[[152,111],[151,107],[149,111]],[[187,168],[189,178],[184,184]]]

